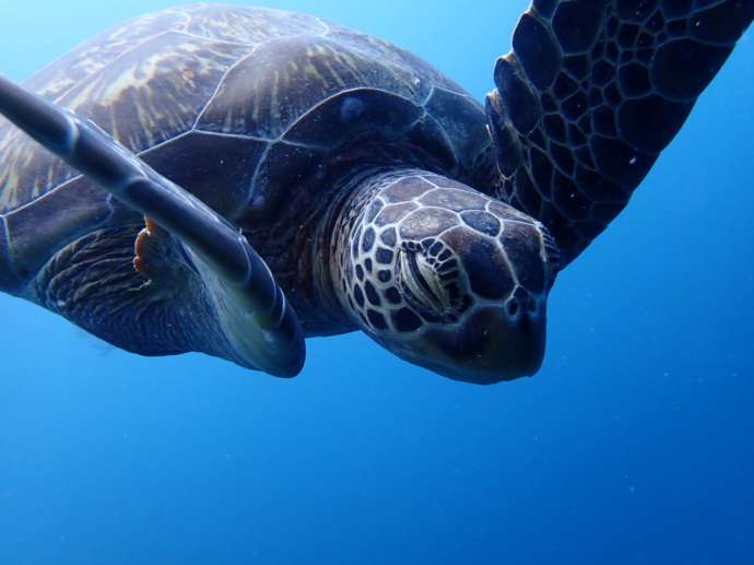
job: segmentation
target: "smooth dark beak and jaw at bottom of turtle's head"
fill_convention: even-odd
[[[453,325],[378,341],[399,357],[444,377],[494,385],[533,376],[542,366],[546,334],[544,298],[535,308],[480,307]]]

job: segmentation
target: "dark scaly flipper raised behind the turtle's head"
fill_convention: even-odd
[[[534,0],[495,69],[500,198],[563,264],[625,208],[754,17],[754,0]]]

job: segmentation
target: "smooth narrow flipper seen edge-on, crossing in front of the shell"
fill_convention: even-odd
[[[298,319],[264,261],[234,226],[94,123],[3,78],[0,114],[185,246],[232,361],[281,377],[301,370],[305,349]]]

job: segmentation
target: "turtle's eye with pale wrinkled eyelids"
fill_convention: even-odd
[[[396,280],[401,294],[422,317],[431,321],[453,321],[458,317],[451,292],[457,273],[439,273],[435,258],[419,246],[404,246],[396,261]]]

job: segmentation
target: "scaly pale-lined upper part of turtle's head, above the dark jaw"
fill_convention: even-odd
[[[557,252],[541,223],[425,170],[356,183],[333,229],[333,279],[376,340],[403,351],[437,331],[466,331],[480,311],[495,310],[508,326],[543,320]]]

